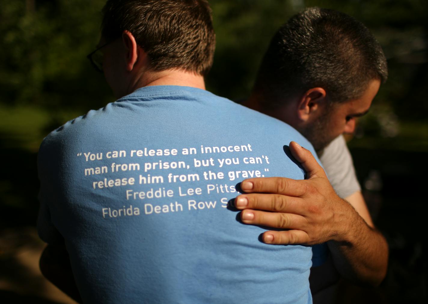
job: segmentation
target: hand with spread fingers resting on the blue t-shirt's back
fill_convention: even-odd
[[[347,229],[356,213],[340,198],[309,150],[290,143],[293,156],[307,172],[306,180],[285,177],[252,178],[241,183],[246,194],[235,198],[245,224],[284,229],[266,231],[268,244],[314,245],[346,241]]]

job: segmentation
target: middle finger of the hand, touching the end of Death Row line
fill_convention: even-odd
[[[279,194],[253,193],[235,198],[235,207],[239,210],[256,209],[306,215],[304,204],[301,198]]]

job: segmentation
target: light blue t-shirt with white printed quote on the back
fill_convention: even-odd
[[[49,134],[39,235],[65,241],[87,303],[312,303],[311,247],[266,245],[227,202],[247,177],[303,179],[293,128],[208,91],[137,89]]]

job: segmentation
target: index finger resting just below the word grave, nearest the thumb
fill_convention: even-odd
[[[292,180],[286,177],[259,177],[243,180],[241,189],[248,193],[259,192],[300,196],[306,192],[306,181]]]

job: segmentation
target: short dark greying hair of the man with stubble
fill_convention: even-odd
[[[270,42],[254,86],[265,108],[321,87],[330,102],[359,98],[387,78],[386,58],[372,33],[342,12],[312,7],[294,15]]]

